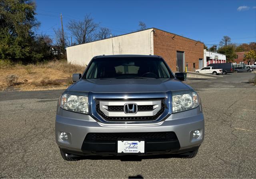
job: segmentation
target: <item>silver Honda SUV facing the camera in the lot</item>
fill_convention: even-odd
[[[204,140],[198,94],[160,56],[96,56],[60,96],[56,142],[64,160],[87,155],[177,154]]]

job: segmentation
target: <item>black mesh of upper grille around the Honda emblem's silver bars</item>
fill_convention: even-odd
[[[139,111],[139,106],[138,105],[138,111]],[[146,110],[149,110],[150,107],[149,106],[152,106],[152,105],[142,105],[140,106],[140,111],[146,111]],[[110,106],[108,106],[108,111],[111,111],[112,110],[120,110],[120,111],[123,111],[124,110],[124,107],[122,106],[114,106],[112,107],[111,106],[111,109],[109,108]],[[121,110],[122,109],[122,110]],[[152,106],[152,109],[153,109],[153,106]],[[160,111],[158,111],[155,115],[153,116],[129,116],[129,117],[109,117],[107,115],[105,115],[101,110],[100,110],[100,102],[99,100],[96,100],[96,111],[99,115],[101,115],[105,120],[107,121],[148,121],[148,120],[156,120],[163,112],[164,112],[164,109],[165,109],[165,105],[164,105],[164,99],[161,100],[161,109]]]

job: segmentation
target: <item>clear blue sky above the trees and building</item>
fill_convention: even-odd
[[[256,0],[243,1],[75,1],[36,0],[36,18],[41,22],[38,34],[54,38],[53,28],[60,28],[63,15],[64,31],[70,19],[79,20],[91,14],[100,26],[121,35],[138,29],[138,21],[148,28],[183,35],[212,46],[223,36],[233,43],[256,42]],[[71,36],[71,35],[70,35]]]

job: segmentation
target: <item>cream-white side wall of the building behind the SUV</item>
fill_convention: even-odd
[[[88,64],[94,56],[98,55],[154,54],[152,30],[153,29],[148,29],[96,42],[68,47],[68,62],[85,65]]]

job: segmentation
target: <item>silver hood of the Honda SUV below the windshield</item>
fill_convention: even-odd
[[[79,80],[67,90],[94,93],[136,93],[190,89],[192,88],[175,79],[88,79]]]

